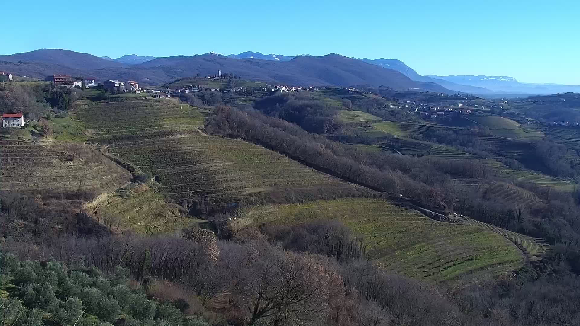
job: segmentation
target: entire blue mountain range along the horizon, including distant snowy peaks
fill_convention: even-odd
[[[229,56],[218,53],[157,58],[125,55],[111,59],[71,50],[38,49],[0,56],[0,71],[21,76],[45,78],[52,74],[70,74],[99,80],[135,79],[150,85],[196,74],[213,75],[220,69],[245,79],[296,85],[384,85],[397,90],[463,92],[484,96],[580,92],[577,85],[521,83],[506,76],[423,76],[400,60],[357,59],[334,53],[320,57],[242,52]]]

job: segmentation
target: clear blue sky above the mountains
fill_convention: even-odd
[[[422,75],[580,85],[577,0],[5,2],[0,55],[339,53],[399,59]]]

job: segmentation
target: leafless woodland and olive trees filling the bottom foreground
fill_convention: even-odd
[[[4,323],[22,323],[21,316],[65,324],[81,316],[93,325],[96,316],[115,325],[163,318],[165,325],[574,325],[580,317],[580,281],[564,266],[545,276],[430,285],[365,260],[360,240],[336,222],[233,229],[227,240],[200,229],[113,236],[99,226],[87,230],[82,216],[56,224],[54,216],[19,209],[4,205],[2,224],[10,215],[48,224],[24,230],[28,240],[22,230],[3,231],[3,250],[16,255],[0,260],[2,275],[10,273],[2,278]],[[59,230],[66,224],[71,229]],[[44,230],[47,237],[38,237]],[[129,287],[119,266],[133,280]],[[126,311],[121,319],[119,311]]]

